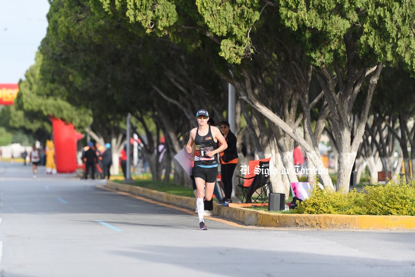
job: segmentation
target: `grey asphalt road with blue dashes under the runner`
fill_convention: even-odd
[[[412,277],[415,232],[248,228],[0,162],[0,277]]]

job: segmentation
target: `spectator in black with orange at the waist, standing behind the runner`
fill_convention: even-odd
[[[238,150],[236,147],[237,138],[234,133],[231,132],[228,121],[220,121],[219,126],[220,131],[228,144],[228,148],[219,154],[220,174],[223,183],[223,190],[225,192],[225,198],[219,204],[229,204],[232,203],[232,178],[238,163]]]

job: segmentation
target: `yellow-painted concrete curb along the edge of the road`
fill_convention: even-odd
[[[127,184],[107,181],[106,187],[141,197],[194,209],[196,199],[158,192]],[[281,214],[238,207],[213,205],[213,215],[244,225],[304,229],[375,229],[415,230],[415,216],[343,215],[343,214]]]

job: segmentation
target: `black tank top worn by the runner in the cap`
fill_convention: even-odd
[[[195,145],[195,165],[218,165],[216,155],[213,157],[207,156],[208,151],[217,149],[217,142],[213,139],[210,126],[205,136],[199,135],[199,127],[196,129]]]

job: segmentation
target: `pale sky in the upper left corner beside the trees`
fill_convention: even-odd
[[[0,83],[17,83],[46,36],[47,0],[0,0]]]

